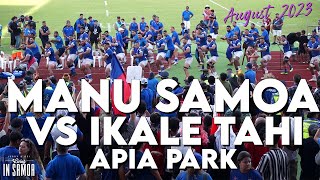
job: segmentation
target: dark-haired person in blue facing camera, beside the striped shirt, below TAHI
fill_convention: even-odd
[[[237,157],[238,169],[230,171],[230,179],[237,180],[262,180],[259,171],[251,166],[251,155],[247,151],[241,151]]]

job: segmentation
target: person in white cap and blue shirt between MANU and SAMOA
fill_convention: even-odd
[[[151,114],[153,112],[153,98],[155,97],[153,91],[148,88],[148,79],[141,79],[141,101],[147,105],[147,111]]]

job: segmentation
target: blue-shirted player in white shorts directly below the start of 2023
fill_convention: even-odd
[[[285,35],[282,35],[281,37],[278,38],[278,42],[280,45],[283,46],[283,67],[284,67],[284,70],[283,72],[281,72],[281,74],[288,74],[288,71],[287,71],[287,65],[289,66],[289,71],[292,72],[293,71],[293,67],[292,65],[290,64],[290,57],[292,55],[292,51],[291,51],[291,46],[289,44],[289,41],[287,41],[287,38]]]

